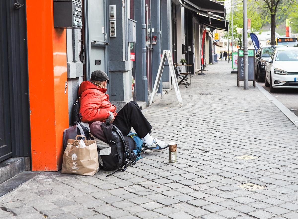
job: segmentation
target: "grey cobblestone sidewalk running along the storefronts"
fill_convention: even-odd
[[[182,107],[170,92],[145,109],[154,135],[178,143],[175,164],[164,151],[107,178],[41,172],[0,198],[0,218],[297,219],[298,128],[229,67],[180,86]]]

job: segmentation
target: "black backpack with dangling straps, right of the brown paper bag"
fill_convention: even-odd
[[[101,123],[101,128],[105,134],[106,141],[111,147],[109,155],[101,155],[103,161],[103,170],[125,171],[128,165],[136,163],[136,155],[132,152],[136,148],[136,143],[130,137],[124,137],[121,131],[109,122]],[[107,176],[110,176],[111,173]]]

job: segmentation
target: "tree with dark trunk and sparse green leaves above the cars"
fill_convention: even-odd
[[[270,14],[271,21],[271,41],[270,44],[275,44],[275,28],[276,28],[276,15],[288,14],[288,12],[295,5],[296,0],[254,0],[256,3],[256,9],[261,9],[263,13]]]

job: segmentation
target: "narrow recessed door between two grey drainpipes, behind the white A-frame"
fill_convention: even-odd
[[[150,0],[145,0],[146,3],[146,73],[148,78],[148,95],[152,93],[152,44],[151,44],[151,10]]]

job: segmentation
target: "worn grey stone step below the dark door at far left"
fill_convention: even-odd
[[[30,170],[29,157],[14,157],[0,162],[0,184],[25,170]]]

